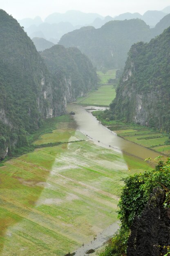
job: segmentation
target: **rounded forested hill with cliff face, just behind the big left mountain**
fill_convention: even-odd
[[[91,61],[76,48],[54,45],[41,53],[51,76],[63,84],[67,101],[83,96],[97,82]]]

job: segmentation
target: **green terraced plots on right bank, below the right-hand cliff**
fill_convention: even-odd
[[[94,111],[93,115],[95,115],[103,125],[115,131],[118,136],[146,148],[151,148],[160,153],[170,155],[169,134],[166,132],[160,132],[159,130],[153,130],[137,124],[125,124],[117,120],[106,121],[102,119],[101,113],[101,111]]]

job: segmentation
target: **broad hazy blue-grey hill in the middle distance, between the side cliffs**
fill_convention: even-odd
[[[97,67],[118,69],[125,65],[127,53],[132,44],[148,41],[150,28],[143,20],[114,20],[100,29],[82,27],[65,34],[59,41],[65,47],[77,47]]]

